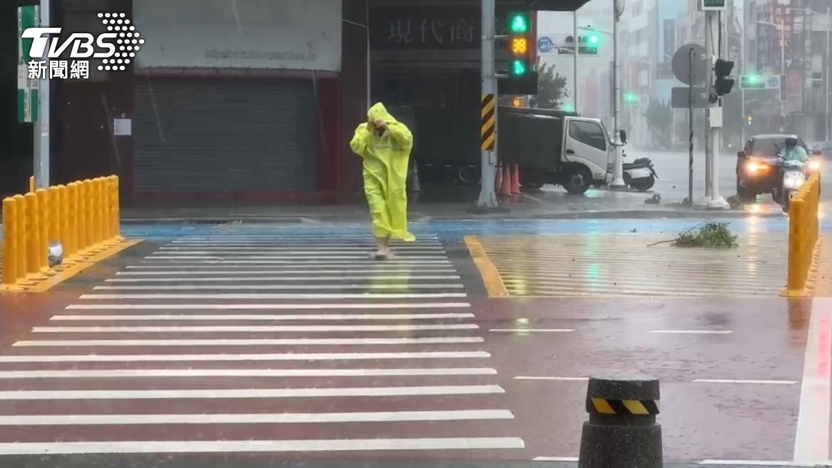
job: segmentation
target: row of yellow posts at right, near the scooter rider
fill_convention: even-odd
[[[812,260],[820,230],[820,175],[812,174],[791,197],[789,207],[789,273],[783,296],[803,297],[809,281]]]

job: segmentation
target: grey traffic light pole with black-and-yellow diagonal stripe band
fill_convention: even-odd
[[[481,0],[483,29],[480,75],[482,91],[480,99],[480,189],[477,207],[498,207],[494,178],[497,165],[497,70],[494,64],[494,2]]]

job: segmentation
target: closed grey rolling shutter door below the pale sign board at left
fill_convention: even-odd
[[[136,193],[317,189],[319,128],[310,81],[136,80]]]

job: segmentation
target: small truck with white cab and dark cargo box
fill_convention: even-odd
[[[621,144],[626,132],[621,131]],[[531,107],[498,109],[500,161],[518,164],[522,184],[542,187],[562,185],[567,192],[582,194],[589,187],[612,182],[616,143],[597,118],[571,112]]]

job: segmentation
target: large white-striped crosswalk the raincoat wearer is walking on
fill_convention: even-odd
[[[518,454],[443,243],[373,247],[240,229],[159,246],[0,356],[0,455]]]

